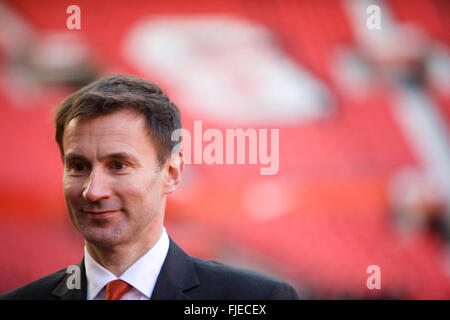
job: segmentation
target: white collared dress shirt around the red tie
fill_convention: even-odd
[[[123,280],[133,286],[121,300],[149,300],[161,267],[169,251],[169,236],[163,227],[158,242],[117,278],[102,267],[84,247],[84,264],[87,278],[87,300],[105,300],[106,285],[113,280]]]

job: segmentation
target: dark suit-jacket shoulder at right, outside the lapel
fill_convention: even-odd
[[[191,259],[200,287],[208,283],[213,288],[212,299],[298,299],[295,289],[280,279],[213,260]]]

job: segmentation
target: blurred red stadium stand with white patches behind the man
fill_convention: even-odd
[[[283,278],[305,299],[450,299],[448,1],[80,0],[81,30],[69,31],[70,4],[0,3],[0,292],[82,258],[51,110],[92,79],[129,73],[160,84],[188,129],[194,120],[280,129],[274,176],[258,165],[186,168],[166,227],[189,253]],[[382,8],[381,30],[366,28],[369,4]],[[237,35],[220,23],[203,32],[214,19]],[[389,38],[397,30],[405,42]],[[365,43],[370,32],[381,47]],[[252,68],[261,57],[292,70]],[[311,92],[260,108],[286,79]],[[410,94],[425,97],[417,110],[428,122],[408,118],[399,97]],[[247,104],[227,113],[233,99]],[[380,290],[366,286],[370,265],[381,269]]]

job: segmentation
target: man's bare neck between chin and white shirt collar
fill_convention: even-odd
[[[89,254],[105,269],[120,277],[133,263],[147,253],[160,239],[162,225],[150,230],[149,236],[140,241],[112,247],[98,246],[85,240]]]

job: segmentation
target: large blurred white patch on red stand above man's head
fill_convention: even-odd
[[[229,16],[158,16],[133,27],[124,54],[171,86],[196,119],[296,124],[331,111],[326,85],[291,59],[266,27]]]

